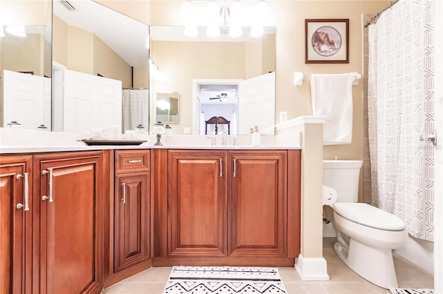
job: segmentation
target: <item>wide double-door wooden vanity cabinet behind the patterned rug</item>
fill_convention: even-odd
[[[168,203],[158,207],[161,266],[293,266],[300,150],[168,150]]]

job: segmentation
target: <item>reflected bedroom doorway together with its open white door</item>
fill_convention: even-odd
[[[222,93],[228,96],[226,101],[221,101]],[[204,121],[210,117],[231,121],[232,135],[247,135],[253,126],[258,126],[262,134],[274,134],[275,72],[245,80],[195,79],[192,97],[195,134],[204,135]],[[209,106],[215,110],[206,113]]]

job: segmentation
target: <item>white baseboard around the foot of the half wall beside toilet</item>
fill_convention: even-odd
[[[300,253],[295,268],[303,281],[329,281],[326,259],[323,257],[303,257]]]

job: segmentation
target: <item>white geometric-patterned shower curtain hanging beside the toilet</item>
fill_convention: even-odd
[[[434,6],[400,0],[369,27],[372,204],[433,241]]]

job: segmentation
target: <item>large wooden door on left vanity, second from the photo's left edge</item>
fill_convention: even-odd
[[[100,293],[102,152],[34,155],[33,168],[35,293]]]

